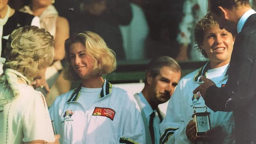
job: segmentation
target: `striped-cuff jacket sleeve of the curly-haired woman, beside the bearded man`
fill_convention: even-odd
[[[186,125],[182,116],[182,87],[178,83],[168,103],[166,116],[160,124],[161,144],[190,144],[186,135]]]

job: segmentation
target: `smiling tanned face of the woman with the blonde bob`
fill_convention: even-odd
[[[88,79],[92,76],[94,59],[86,52],[86,48],[81,42],[70,45],[69,57],[72,68],[80,78]]]

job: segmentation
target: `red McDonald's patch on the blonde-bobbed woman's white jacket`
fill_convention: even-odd
[[[106,116],[110,118],[111,120],[114,119],[115,116],[115,111],[110,108],[105,108],[105,107],[95,107],[93,111],[93,116]]]

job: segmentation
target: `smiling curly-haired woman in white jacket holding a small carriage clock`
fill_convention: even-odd
[[[198,50],[210,61],[180,79],[160,125],[161,143],[235,144],[232,112],[213,111],[207,107],[210,125],[206,121],[203,126],[207,128],[203,131],[198,131],[202,128],[199,121],[191,120],[193,107],[198,108],[197,112],[203,110],[199,107],[206,107],[200,92],[193,94],[193,90],[203,83],[202,77],[211,79],[217,87],[225,87],[235,38],[225,29],[220,29],[210,13],[197,23],[194,35]]]

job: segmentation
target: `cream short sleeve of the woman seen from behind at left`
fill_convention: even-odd
[[[50,115],[41,92],[31,92],[33,96],[26,105],[23,116],[24,142],[33,140],[45,140],[53,142],[55,140],[50,120]]]

